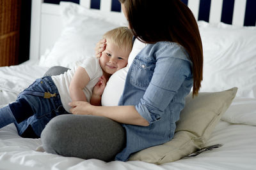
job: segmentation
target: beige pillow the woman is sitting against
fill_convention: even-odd
[[[173,139],[131,155],[129,160],[163,164],[182,159],[202,148],[221,116],[236,97],[237,87],[222,92],[202,92],[186,97]]]

